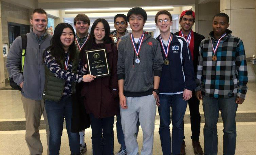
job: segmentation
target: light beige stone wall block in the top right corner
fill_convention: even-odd
[[[254,8],[255,0],[231,0],[231,9]]]

